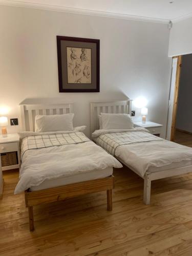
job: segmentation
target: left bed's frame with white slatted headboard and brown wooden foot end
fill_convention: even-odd
[[[54,115],[73,113],[73,103],[21,105],[23,131],[34,131],[35,115]],[[37,191],[25,191],[25,203],[29,212],[29,228],[34,230],[33,206],[64,200],[67,198],[106,190],[107,210],[112,210],[112,189],[114,177],[78,182]]]

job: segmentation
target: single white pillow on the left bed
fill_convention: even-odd
[[[37,115],[35,116],[35,132],[73,131],[74,114]]]

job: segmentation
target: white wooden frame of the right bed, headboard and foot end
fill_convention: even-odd
[[[118,101],[100,101],[91,102],[91,134],[99,129],[99,118],[100,113],[126,113],[131,115],[132,100],[118,100]],[[117,157],[116,157],[117,158]],[[125,166],[129,167],[121,158],[117,158]],[[130,168],[131,169],[131,168]],[[135,172],[135,171],[134,171]],[[192,172],[192,165],[184,166],[174,169],[165,169],[155,173],[146,172],[144,177],[144,190],[143,190],[143,201],[145,204],[150,204],[151,198],[151,182],[153,180],[163,179],[181,174],[187,174]]]

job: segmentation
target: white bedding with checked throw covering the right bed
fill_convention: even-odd
[[[108,148],[109,150],[111,148],[113,151],[115,150],[112,153],[120,161],[122,159],[122,162],[141,177],[144,177],[145,172],[154,173],[191,166],[191,147],[167,140],[155,140],[155,136],[148,134],[145,130],[142,133],[138,133],[140,131],[132,129],[125,133],[125,131],[119,130],[97,130],[93,133],[93,138],[99,145],[100,141],[104,141],[104,143],[101,142],[101,146],[106,151],[108,151]],[[110,136],[105,136],[105,134],[110,134]],[[139,136],[139,134],[143,134],[143,137]],[[126,138],[126,143],[121,144],[120,142],[124,137]],[[154,140],[151,137],[154,137]],[[148,141],[147,138],[149,139]]]

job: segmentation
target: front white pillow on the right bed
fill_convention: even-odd
[[[101,113],[102,129],[133,129],[134,124],[129,114]]]

